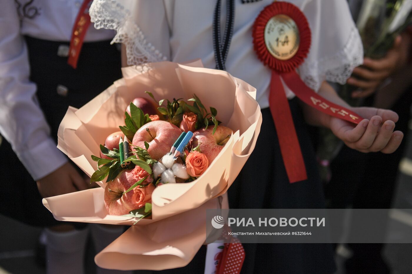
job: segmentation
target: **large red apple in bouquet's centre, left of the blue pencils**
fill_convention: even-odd
[[[149,129],[150,133],[147,131]],[[166,121],[151,121],[139,128],[133,137],[132,144],[145,148],[145,141],[149,144],[147,150],[155,160],[160,160],[168,153],[182,131],[176,125]]]

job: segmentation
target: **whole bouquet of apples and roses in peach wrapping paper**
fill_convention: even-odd
[[[63,118],[59,149],[101,187],[43,204],[60,221],[131,225],[96,255],[100,267],[182,267],[210,233],[206,209],[227,207],[262,115],[255,88],[201,66],[123,68],[122,79]]]

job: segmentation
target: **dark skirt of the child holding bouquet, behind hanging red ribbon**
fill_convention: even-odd
[[[262,128],[256,147],[229,188],[230,208],[325,208],[323,187],[307,125],[298,99],[289,101],[308,179],[289,183],[270,110],[262,109]],[[335,262],[332,244],[243,244],[242,273],[330,274]],[[162,273],[203,273],[206,246],[186,267]]]

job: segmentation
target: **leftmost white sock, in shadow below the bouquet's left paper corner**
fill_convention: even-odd
[[[89,230],[57,232],[45,229],[46,273],[84,274],[84,251]]]

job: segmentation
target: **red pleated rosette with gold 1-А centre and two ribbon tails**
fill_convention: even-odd
[[[289,52],[286,52],[286,58],[282,58],[282,54],[274,49],[273,45],[275,43],[271,44],[269,42],[269,47],[271,47],[272,52],[269,51],[267,41],[265,41],[265,35],[267,35],[269,39],[269,33],[275,32],[275,28],[273,27],[272,29],[269,28],[267,33],[265,33],[269,21],[271,21],[274,16],[278,15],[287,16],[284,17],[287,18],[285,21],[289,22],[289,26],[296,26],[295,28],[297,28],[298,33],[295,40],[297,42],[295,42],[295,46],[293,46]],[[293,25],[293,23],[295,25]],[[282,31],[279,29],[276,29],[278,35]],[[282,42],[285,42],[285,39],[278,39],[279,36],[275,40],[276,47],[279,47],[279,44],[283,46],[284,43]],[[288,43],[286,44],[288,45]],[[298,44],[297,49],[295,49],[296,44]],[[288,107],[289,103],[286,98],[283,83],[286,84],[286,86],[288,86],[300,100],[330,116],[335,116],[351,123],[359,123],[362,121],[362,118],[353,111],[334,104],[318,95],[311,88],[306,86],[299,74],[296,73],[295,70],[304,62],[304,59],[309,53],[311,46],[311,30],[306,16],[295,5],[288,2],[273,2],[265,7],[265,9],[260,12],[253,25],[253,46],[258,58],[272,69],[269,107],[275,123],[283,162],[289,181],[290,183],[294,183],[306,180],[307,173],[302,151],[297,139],[292,114]],[[278,55],[279,58],[276,58],[274,55]]]

